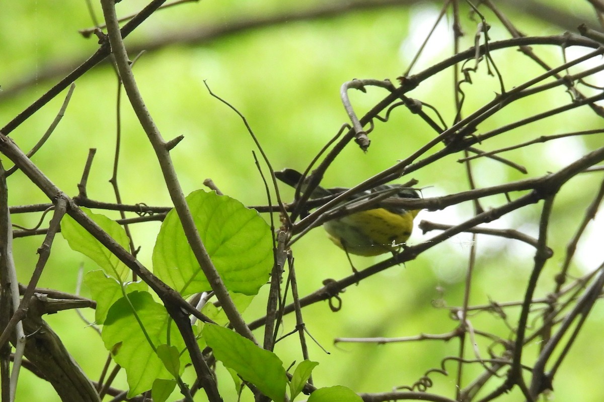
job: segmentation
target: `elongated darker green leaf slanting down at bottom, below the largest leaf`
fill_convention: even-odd
[[[272,400],[284,400],[288,377],[276,354],[219,325],[205,324],[204,338],[223,365],[234,369]]]

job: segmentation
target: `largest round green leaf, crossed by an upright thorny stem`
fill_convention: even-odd
[[[187,203],[199,235],[227,289],[255,295],[272,268],[272,236],[255,210],[236,199],[197,190]],[[210,283],[171,210],[153,248],[153,271],[182,295],[210,291]]]

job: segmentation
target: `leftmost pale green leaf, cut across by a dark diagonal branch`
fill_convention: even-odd
[[[106,231],[109,236],[120,243],[121,247],[128,248],[126,231],[117,222],[112,221],[104,215],[92,213],[88,208],[81,207],[81,209]],[[65,237],[72,250],[79,251],[89,257],[98,266],[103,268],[106,274],[121,282],[126,281],[127,274],[130,272],[128,267],[69,215],[65,215],[61,219],[61,234]]]

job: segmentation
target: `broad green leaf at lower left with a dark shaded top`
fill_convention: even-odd
[[[143,324],[144,331],[137,318]],[[127,299],[122,297],[116,301],[107,313],[101,338],[115,362],[126,370],[129,398],[150,389],[156,378],[174,378],[149,341],[155,348],[169,344],[177,350],[185,349],[176,324],[164,306],[156,303],[147,292],[132,292]],[[190,358],[187,353],[182,353],[179,359],[179,374],[182,374]]]

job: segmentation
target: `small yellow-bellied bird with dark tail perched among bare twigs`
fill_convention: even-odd
[[[294,169],[283,169],[275,172],[275,177],[297,187],[302,178],[300,172]],[[304,183],[301,189],[304,190]],[[310,198],[321,198],[335,195],[346,189],[324,189],[316,187]],[[384,192],[394,192],[393,198],[419,198],[416,190],[391,184],[374,187],[364,193],[352,196],[345,202],[370,198]],[[413,218],[419,210],[406,210],[400,207],[377,207],[361,212],[351,213],[341,218],[332,219],[323,224],[329,235],[329,239],[347,254],[358,256],[378,256],[384,253],[395,254],[400,247],[409,239],[413,230]]]

